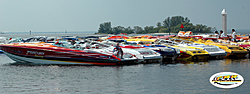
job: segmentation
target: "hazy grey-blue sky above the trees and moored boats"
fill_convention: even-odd
[[[156,26],[167,17],[188,17],[193,24],[250,29],[250,0],[0,0],[0,31],[98,31],[112,27]]]

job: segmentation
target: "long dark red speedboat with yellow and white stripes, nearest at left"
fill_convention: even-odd
[[[31,64],[121,65],[127,63],[135,64],[138,61],[137,59],[120,59],[110,53],[71,49],[49,43],[2,44],[0,48],[12,60]],[[131,55],[130,58],[133,57]]]

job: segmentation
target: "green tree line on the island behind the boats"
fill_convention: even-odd
[[[184,28],[180,28],[183,24]],[[156,26],[146,26],[144,28],[140,26],[134,26],[133,28],[116,26],[112,27],[111,22],[104,22],[100,24],[98,33],[104,34],[147,34],[147,33],[178,33],[179,31],[192,31],[193,33],[211,33],[216,30],[216,28],[208,27],[202,24],[192,24],[187,17],[173,16],[168,17],[162,22],[158,22]]]

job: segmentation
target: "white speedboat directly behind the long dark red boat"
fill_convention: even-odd
[[[72,45],[68,41],[59,41],[53,44],[54,46],[58,47],[65,47],[65,48],[71,48],[71,49],[77,49],[77,50],[84,50],[84,51],[95,51],[98,53],[104,53],[104,54],[112,54],[116,56],[117,58],[121,59],[121,64],[138,64],[142,61],[143,55],[141,55],[139,52],[129,49],[123,49],[123,56],[121,55],[117,56],[117,54],[114,54],[114,46],[109,46],[97,41],[78,41],[76,44]]]

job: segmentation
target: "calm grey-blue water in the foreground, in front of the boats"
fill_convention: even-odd
[[[250,59],[165,62],[130,66],[40,66],[16,64],[0,54],[0,93],[250,93]],[[245,79],[234,89],[210,84],[217,72]]]

